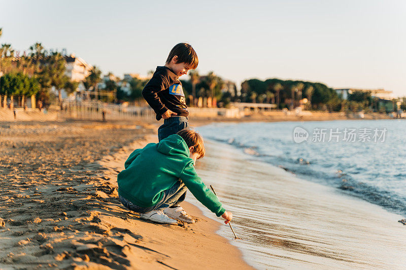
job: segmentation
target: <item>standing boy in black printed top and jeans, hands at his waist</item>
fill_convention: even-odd
[[[156,113],[164,119],[158,128],[159,141],[189,127],[189,112],[179,77],[197,67],[199,60],[192,46],[179,43],[169,53],[164,66],[158,66],[142,95]]]

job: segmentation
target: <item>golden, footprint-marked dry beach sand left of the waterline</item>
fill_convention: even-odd
[[[191,204],[183,207],[197,222],[181,226],[142,221],[120,204],[117,173],[155,128],[0,123],[0,269],[250,268]]]

